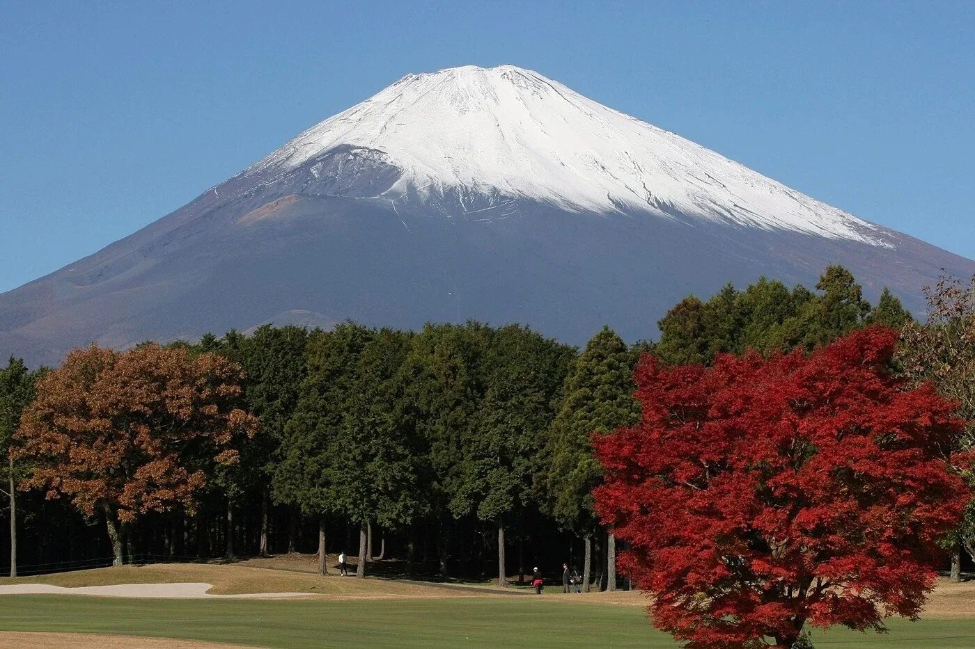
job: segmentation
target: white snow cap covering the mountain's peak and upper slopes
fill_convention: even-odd
[[[680,135],[514,65],[408,74],[250,168],[285,174],[337,146],[386,154],[386,192],[492,189],[573,211],[701,218],[887,246],[877,226]]]

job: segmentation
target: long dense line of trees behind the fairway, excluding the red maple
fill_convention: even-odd
[[[326,573],[341,550],[357,551],[358,576],[378,558],[442,578],[487,577],[493,564],[503,585],[526,561],[568,561],[587,588],[612,590],[592,436],[640,420],[641,356],[710,365],[746,349],[811,351],[871,324],[911,332],[923,353],[898,363],[913,380],[943,371],[930,369],[943,356],[932,332],[946,325],[915,324],[887,290],[871,305],[839,266],[814,290],[762,278],[688,296],[657,342],[633,345],[608,327],[578,350],[522,325],[348,322],[92,346],[57,369],[11,359],[0,369],[11,574],[19,558],[40,571],[313,550]]]

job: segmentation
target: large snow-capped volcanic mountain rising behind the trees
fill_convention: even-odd
[[[262,323],[520,322],[650,337],[688,292],[975,262],[511,65],[410,74],[135,234],[0,294],[0,357]]]

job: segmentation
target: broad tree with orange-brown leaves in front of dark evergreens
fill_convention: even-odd
[[[75,350],[39,381],[23,412],[16,453],[36,468],[20,487],[104,516],[118,565],[120,522],[192,513],[208,469],[238,461],[235,446],[257,430],[237,407],[242,378],[237,364],[215,354],[155,344]]]

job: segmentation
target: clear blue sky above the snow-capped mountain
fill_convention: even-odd
[[[0,290],[408,72],[514,63],[975,257],[975,3],[10,1]]]

